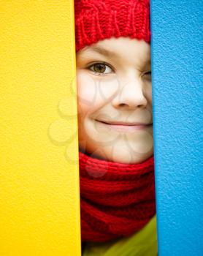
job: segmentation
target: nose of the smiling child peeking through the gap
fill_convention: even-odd
[[[122,109],[146,108],[148,99],[145,97],[142,81],[134,78],[120,84],[118,94],[112,99],[112,105]]]

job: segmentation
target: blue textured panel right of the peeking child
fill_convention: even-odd
[[[203,255],[203,2],[150,8],[158,255]]]

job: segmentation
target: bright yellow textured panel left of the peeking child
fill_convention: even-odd
[[[74,2],[0,6],[0,255],[77,256]]]

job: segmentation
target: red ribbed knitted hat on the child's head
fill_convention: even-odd
[[[74,0],[76,51],[110,37],[150,42],[149,0]]]

